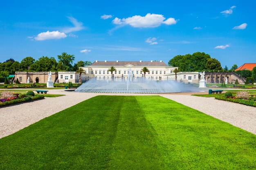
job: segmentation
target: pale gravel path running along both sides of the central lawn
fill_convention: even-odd
[[[0,108],[0,138],[11,135],[35,122],[74,106],[97,95],[154,95],[118,93],[74,93],[64,90],[49,90],[49,94],[65,94],[45,99]],[[234,126],[256,134],[256,108],[213,99],[191,96],[190,93],[155,94],[199,110],[226,121]],[[202,106],[200,105],[202,104]]]

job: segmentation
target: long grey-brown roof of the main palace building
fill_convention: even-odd
[[[95,61],[91,64],[91,66],[126,66],[127,64],[133,66],[167,66],[162,61],[138,61],[138,62],[121,62],[121,61]]]

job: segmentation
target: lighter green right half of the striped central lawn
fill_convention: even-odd
[[[256,169],[256,135],[163,97],[136,98],[168,169]]]

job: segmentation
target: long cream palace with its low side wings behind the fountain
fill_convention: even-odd
[[[114,66],[117,71],[113,72],[114,79],[119,80],[122,78],[127,79],[129,70],[132,76],[136,78],[144,77],[141,71],[143,67],[147,67],[149,72],[146,72],[146,79],[150,80],[175,80],[175,73],[173,70],[177,67],[168,66],[162,60],[160,61],[98,61],[96,60],[90,66],[82,67],[85,74],[81,75],[82,82],[89,79],[111,79],[111,72],[108,69]],[[54,82],[79,82],[79,74],[75,71],[56,71],[54,72]],[[16,72],[15,77],[21,83],[26,83],[29,77],[31,82],[46,83],[47,72]],[[198,83],[198,72],[180,72],[177,73],[177,81],[184,83]]]

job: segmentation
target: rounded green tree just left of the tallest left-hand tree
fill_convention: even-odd
[[[57,62],[54,57],[40,57],[29,68],[29,71],[57,71]]]

